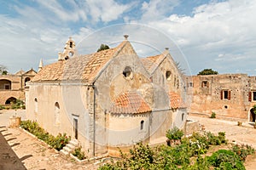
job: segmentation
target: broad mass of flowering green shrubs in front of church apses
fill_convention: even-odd
[[[99,169],[244,170],[245,167],[242,164],[241,156],[237,153],[253,154],[254,149],[250,146],[243,146],[243,148],[237,148],[236,146],[232,150],[218,150],[212,156],[201,156],[201,154],[207,153],[209,145],[224,143],[226,143],[224,132],[219,132],[218,135],[210,132],[203,134],[193,133],[191,137],[181,139],[181,144],[173,147],[161,145],[156,148],[150,148],[148,144],[139,143],[130,150],[128,155],[123,154],[120,150],[121,158],[119,161],[109,162]],[[243,157],[244,154],[242,155]]]

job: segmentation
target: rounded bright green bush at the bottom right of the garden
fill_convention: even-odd
[[[207,157],[207,161],[217,169],[241,169],[245,170],[239,156],[232,150],[218,150]]]

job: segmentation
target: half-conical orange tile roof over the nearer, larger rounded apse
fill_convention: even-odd
[[[152,111],[140,94],[136,91],[127,91],[119,94],[110,108],[111,113],[138,114]]]

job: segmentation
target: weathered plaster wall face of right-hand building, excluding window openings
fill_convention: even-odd
[[[202,82],[207,82],[202,87]],[[191,113],[247,119],[249,107],[248,77],[245,74],[227,74],[193,77]],[[221,99],[222,90],[230,91],[230,99]]]

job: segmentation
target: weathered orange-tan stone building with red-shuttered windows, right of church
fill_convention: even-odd
[[[189,113],[255,122],[256,77],[247,74],[193,76],[187,78],[192,96]]]

